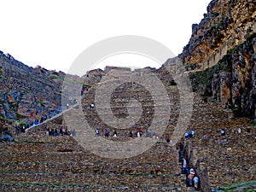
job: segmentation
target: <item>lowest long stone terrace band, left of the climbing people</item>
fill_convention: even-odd
[[[61,185],[65,183],[73,183],[76,185],[109,185],[109,186],[135,186],[144,183],[151,186],[181,186],[183,185],[183,176],[172,175],[144,175],[144,174],[88,174],[88,173],[30,173],[30,172],[2,172],[2,183],[55,183]],[[127,182],[129,181],[129,182]]]

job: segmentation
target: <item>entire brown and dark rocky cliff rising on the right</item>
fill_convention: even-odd
[[[195,91],[255,118],[256,3],[213,0],[179,55]]]

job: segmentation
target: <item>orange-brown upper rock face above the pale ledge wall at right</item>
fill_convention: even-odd
[[[185,65],[211,62],[222,49],[241,44],[255,32],[256,5],[253,0],[213,0],[199,25],[192,25],[192,36],[181,57]]]

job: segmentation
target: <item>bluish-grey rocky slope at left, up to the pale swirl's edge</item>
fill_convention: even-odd
[[[0,52],[0,118],[31,125],[61,112],[61,85],[65,73],[27,67]]]

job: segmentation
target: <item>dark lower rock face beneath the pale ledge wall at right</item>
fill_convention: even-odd
[[[195,91],[236,109],[238,116],[255,117],[256,34],[230,49],[227,55],[206,70],[190,73]]]

